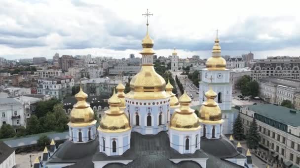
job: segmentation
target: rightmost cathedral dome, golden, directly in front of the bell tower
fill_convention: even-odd
[[[209,90],[205,93],[207,98],[206,102],[202,103],[202,106],[199,110],[200,122],[208,123],[221,123],[222,113],[218,103],[215,102],[214,98],[217,96],[216,92],[210,87]]]

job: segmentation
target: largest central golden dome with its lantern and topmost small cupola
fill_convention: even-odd
[[[155,72],[153,67],[153,40],[149,36],[148,26],[146,37],[142,41],[142,68],[130,82],[130,92],[125,95],[131,99],[152,100],[170,97],[165,92],[165,80]]]

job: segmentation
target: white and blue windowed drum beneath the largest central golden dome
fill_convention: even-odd
[[[133,132],[154,135],[168,130],[167,118],[170,115],[170,98],[157,100],[125,98],[125,103]]]

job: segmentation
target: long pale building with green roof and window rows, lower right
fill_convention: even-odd
[[[273,104],[249,105],[241,108],[244,134],[253,118],[258,124],[260,144],[269,149],[271,159],[300,166],[300,113]],[[296,167],[295,167],[296,168]]]

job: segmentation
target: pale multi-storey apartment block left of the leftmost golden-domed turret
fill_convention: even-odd
[[[74,79],[71,76],[59,78],[38,79],[38,94],[47,94],[57,99],[62,99],[66,94],[71,94]]]

